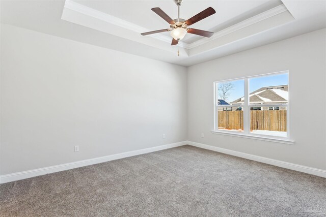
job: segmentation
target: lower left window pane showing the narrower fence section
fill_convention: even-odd
[[[218,107],[219,130],[243,132],[243,107]]]

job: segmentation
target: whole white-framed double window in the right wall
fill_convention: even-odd
[[[214,131],[289,138],[288,72],[214,82]]]

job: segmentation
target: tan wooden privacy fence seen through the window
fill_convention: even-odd
[[[243,130],[243,111],[219,111],[219,128]],[[286,131],[286,110],[250,111],[250,130]]]

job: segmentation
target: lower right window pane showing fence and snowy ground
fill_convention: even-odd
[[[258,108],[257,110],[250,110],[250,132],[253,134],[286,137],[286,107],[263,106]],[[274,110],[270,108],[274,108]]]

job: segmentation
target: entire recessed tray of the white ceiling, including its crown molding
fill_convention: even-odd
[[[217,3],[216,3],[217,2]],[[250,4],[243,4],[243,2],[248,2]],[[258,3],[259,2],[259,3]],[[232,43],[235,40],[240,40],[242,38],[246,38],[250,35],[257,34],[261,31],[264,31],[268,28],[275,27],[277,25],[281,25],[283,23],[289,22],[293,17],[287,11],[286,7],[281,4],[279,5],[277,1],[273,1],[273,4],[269,3],[270,1],[184,1],[182,6],[186,3],[192,5],[189,9],[184,7],[185,11],[189,13],[189,11],[196,11],[197,13],[201,11],[198,8],[203,7],[203,9],[208,8],[209,6],[219,7],[220,13],[224,12],[225,10],[231,10],[230,6],[233,4],[238,3],[239,5],[243,4],[243,7],[246,6],[249,11],[247,11],[247,16],[249,12],[253,13],[252,11],[255,9],[257,12],[257,8],[266,9],[274,6],[273,4],[277,3],[278,6],[263,11],[257,15],[251,16],[248,19],[240,20],[239,22],[228,26],[219,32],[216,32],[212,37],[198,37],[193,34],[186,34],[184,40],[181,40],[178,45],[173,47],[182,47],[184,48],[184,52],[186,55],[188,54],[198,54],[205,52],[210,49],[214,49],[219,46],[223,46],[228,43]],[[83,4],[79,4],[83,3]],[[105,32],[108,34],[112,34],[115,36],[119,36],[128,40],[132,40],[138,43],[143,43],[146,45],[150,45],[156,47],[161,50],[166,51],[173,51],[171,47],[172,37],[170,36],[169,32],[166,33],[157,33],[148,36],[141,36],[140,33],[150,32],[151,30],[169,28],[169,23],[167,23],[164,19],[154,13],[151,8],[155,7],[154,4],[162,4],[165,6],[166,4],[172,3],[172,8],[177,8],[173,1],[76,1],[76,0],[66,0],[64,11],[62,14],[62,19],[76,23],[79,25],[84,25],[89,28],[93,28],[96,30],[100,30],[101,32]],[[199,4],[203,3],[203,4]],[[223,3],[223,4],[222,4]],[[268,3],[268,4],[267,4]],[[196,5],[197,4],[197,5]],[[206,5],[204,5],[206,4]],[[213,4],[213,5],[212,5]],[[128,6],[128,7],[127,7]],[[140,7],[142,6],[142,7]],[[196,6],[196,7],[195,7]],[[200,7],[199,7],[200,6]],[[218,26],[224,25],[227,26],[226,23],[232,23],[239,20],[239,16],[243,16],[244,11],[239,11],[237,9],[238,6],[235,7],[235,11],[225,14],[226,17],[223,16],[215,16],[213,14],[204,20],[200,20],[199,22],[191,25],[193,28],[199,29],[218,29]],[[113,10],[115,8],[116,10]],[[133,8],[131,10],[130,8]],[[148,8],[148,11],[143,11],[144,8]],[[163,8],[163,7],[161,7]],[[191,10],[190,10],[191,9]],[[188,10],[188,11],[187,11]],[[289,16],[282,17],[280,16],[281,13],[287,12]],[[109,14],[112,13],[112,14]],[[140,16],[140,13],[145,14],[145,16]],[[166,11],[166,13],[169,13]],[[191,12],[192,13],[192,12]],[[148,18],[149,15],[154,15],[153,18]],[[192,13],[195,15],[196,13]],[[255,13],[254,13],[255,14]],[[191,15],[189,15],[190,17]],[[270,17],[274,18],[274,23],[262,22]],[[174,18],[174,17],[173,17]],[[223,23],[221,20],[224,20]],[[157,19],[157,20],[156,20]],[[138,21],[137,21],[138,20]],[[147,21],[146,21],[147,20]],[[139,23],[138,23],[139,22]],[[163,23],[164,25],[156,24],[153,25],[152,23]],[[258,23],[258,25],[257,25]],[[263,23],[263,24],[262,24]],[[267,24],[268,23],[268,24]],[[202,25],[203,24],[203,25]],[[265,27],[264,27],[265,25]],[[205,27],[206,26],[206,27]],[[152,29],[151,29],[152,28]],[[244,34],[245,33],[245,34]],[[232,34],[232,37],[229,34]],[[195,37],[194,37],[195,36]],[[236,36],[236,37],[235,37]],[[224,37],[224,38],[221,38]],[[229,40],[222,40],[228,38]],[[195,39],[195,40],[194,40]],[[188,42],[188,43],[187,43]],[[208,45],[204,46],[204,44],[208,43]],[[212,46],[213,45],[213,46]],[[196,51],[192,51],[192,49]]]

